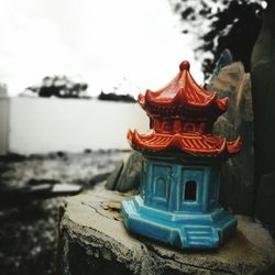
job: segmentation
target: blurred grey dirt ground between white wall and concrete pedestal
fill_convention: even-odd
[[[55,273],[58,211],[63,197],[25,198],[20,190],[47,183],[77,184],[85,191],[106,179],[116,163],[128,155],[129,152],[86,151],[82,154],[58,152],[1,157],[0,274]]]

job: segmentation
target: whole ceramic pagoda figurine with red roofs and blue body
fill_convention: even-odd
[[[219,205],[221,163],[241,148],[212,135],[228,98],[208,92],[189,73],[189,63],[163,89],[139,96],[151,132],[129,131],[143,155],[141,194],[122,202],[125,227],[179,248],[219,248],[237,229],[237,218]]]

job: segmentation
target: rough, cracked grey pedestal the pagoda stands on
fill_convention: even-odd
[[[178,251],[129,234],[118,209],[127,196],[100,185],[66,200],[61,274],[274,274],[275,246],[260,223],[239,216],[237,235],[219,251]]]

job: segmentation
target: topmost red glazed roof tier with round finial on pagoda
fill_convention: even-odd
[[[142,108],[150,113],[168,111],[182,114],[185,110],[188,113],[223,113],[228,107],[228,98],[219,99],[217,92],[208,92],[201,88],[191,77],[189,68],[189,62],[182,62],[177,76],[164,88],[157,91],[146,90],[145,96],[140,95],[139,102]]]

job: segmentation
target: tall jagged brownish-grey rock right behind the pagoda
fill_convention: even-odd
[[[208,87],[219,97],[229,97],[228,111],[215,123],[215,134],[242,139],[242,151],[222,165],[220,197],[224,207],[234,212],[253,213],[254,150],[253,109],[250,75],[242,63],[232,63],[220,69]]]

